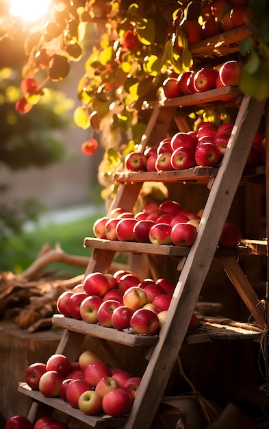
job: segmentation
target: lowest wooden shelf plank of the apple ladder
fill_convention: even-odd
[[[73,408],[68,402],[64,402],[60,397],[47,397],[39,391],[32,390],[27,383],[19,383],[18,392],[31,397],[34,401],[46,404],[47,406],[51,406],[51,408],[62,411],[62,413],[75,417],[75,419],[88,424],[90,428],[119,428],[126,421],[126,417],[114,418],[108,415],[86,415],[81,410]]]

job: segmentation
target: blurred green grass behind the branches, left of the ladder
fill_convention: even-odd
[[[103,212],[100,210],[99,214],[95,213],[84,219],[61,224],[51,223],[32,232],[24,232],[18,237],[10,237],[5,252],[0,256],[0,271],[22,272],[34,262],[45,243],[50,243],[52,248],[56,243],[60,243],[67,254],[90,256],[91,250],[83,246],[84,238],[93,236],[92,225],[101,216]],[[46,271],[57,271],[62,273],[61,277],[70,278],[83,273],[84,269],[53,262],[47,266]]]

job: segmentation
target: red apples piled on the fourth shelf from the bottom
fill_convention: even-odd
[[[164,138],[157,146],[144,151],[132,152],[125,158],[128,171],[172,171],[193,167],[216,167],[222,161],[233,123],[217,127],[209,121],[201,121],[196,131],[177,132]],[[246,167],[265,165],[265,136],[257,132],[253,140]]]

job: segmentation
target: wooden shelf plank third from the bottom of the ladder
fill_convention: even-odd
[[[152,243],[137,243],[135,241],[110,241],[101,238],[84,238],[84,247],[94,249],[112,250],[114,252],[131,252],[134,254],[155,254],[163,256],[187,256],[190,247],[174,245],[155,245]],[[251,249],[246,246],[217,247],[215,256],[240,256],[251,254]]]

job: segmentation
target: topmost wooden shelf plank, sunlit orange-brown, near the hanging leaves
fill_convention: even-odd
[[[190,45],[190,52],[195,58],[218,58],[239,51],[239,42],[253,31],[244,25],[229,32],[217,34],[206,40]]]

